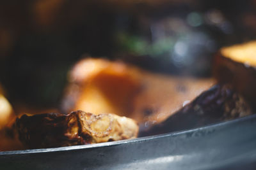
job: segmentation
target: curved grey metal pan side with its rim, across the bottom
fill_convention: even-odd
[[[0,152],[0,169],[256,169],[256,115],[95,145]]]

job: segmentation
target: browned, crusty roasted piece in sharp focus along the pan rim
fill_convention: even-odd
[[[15,122],[20,141],[28,148],[85,145],[136,138],[138,125],[114,114],[93,115],[78,110],[68,115],[22,115]]]

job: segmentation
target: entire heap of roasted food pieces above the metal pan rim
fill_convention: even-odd
[[[58,113],[16,113],[0,94],[0,150],[102,143],[252,115],[256,41],[221,48],[212,78],[150,73],[86,58],[68,74]]]

